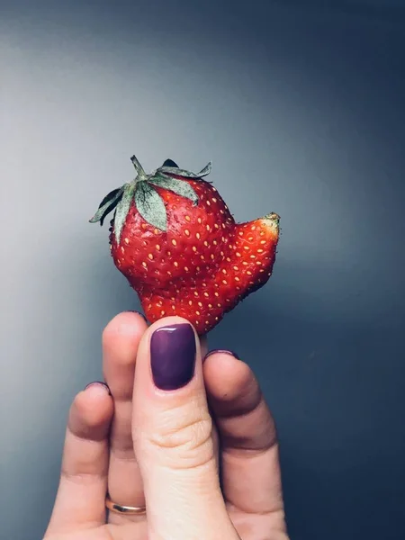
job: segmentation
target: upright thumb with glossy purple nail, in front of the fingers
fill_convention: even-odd
[[[141,339],[132,437],[150,540],[238,538],[220,491],[200,342],[184,319],[159,320]]]

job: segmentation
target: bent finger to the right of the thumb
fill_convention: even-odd
[[[255,375],[227,351],[207,356],[203,374],[219,430],[222,490],[229,509],[239,522],[256,516],[257,527],[284,531],[275,422]]]

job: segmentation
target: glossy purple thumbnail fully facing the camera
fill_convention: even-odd
[[[189,324],[174,324],[153,332],[150,365],[153,381],[160,390],[177,390],[193,379],[195,337]]]

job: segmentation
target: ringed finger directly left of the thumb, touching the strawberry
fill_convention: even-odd
[[[124,312],[103,331],[103,373],[114,400],[110,436],[108,491],[122,506],[143,506],[145,499],[131,436],[132,392],[139,340],[147,329],[141,315]],[[110,514],[110,521],[122,519]],[[128,520],[128,516],[125,516]]]

